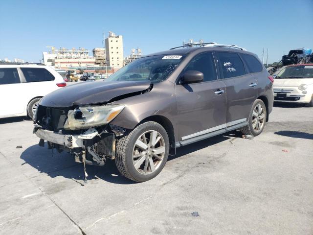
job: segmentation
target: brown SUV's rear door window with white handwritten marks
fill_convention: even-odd
[[[217,54],[224,78],[238,77],[246,74],[244,63],[237,53],[217,52]]]

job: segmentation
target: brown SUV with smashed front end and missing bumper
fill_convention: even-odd
[[[34,133],[41,146],[46,140],[76,162],[115,159],[122,175],[143,182],[177,147],[231,130],[259,135],[272,110],[272,82],[241,47],[174,48],[140,57],[103,82],[46,95]]]

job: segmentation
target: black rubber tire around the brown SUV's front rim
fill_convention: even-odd
[[[133,150],[137,139],[147,131],[157,131],[164,139],[165,153],[158,168],[150,174],[139,173],[133,164]],[[119,172],[135,182],[144,182],[156,177],[166,164],[169,154],[169,138],[166,130],[157,122],[147,121],[138,125],[134,130],[123,136],[116,143],[115,164]]]

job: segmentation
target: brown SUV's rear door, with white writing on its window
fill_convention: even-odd
[[[215,52],[221,78],[226,86],[226,125],[231,126],[247,120],[253,102],[257,98],[258,83],[247,73],[238,53]]]

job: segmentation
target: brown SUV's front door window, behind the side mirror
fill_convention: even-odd
[[[185,71],[200,71],[203,73],[203,81],[213,81],[217,79],[215,63],[212,52],[205,52],[197,55],[184,69]]]

